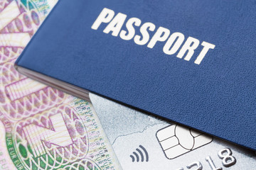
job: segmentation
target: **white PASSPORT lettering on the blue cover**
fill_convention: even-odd
[[[166,55],[174,55],[176,54],[177,58],[184,59],[186,61],[190,61],[194,55],[196,49],[198,49],[199,45],[203,46],[201,52],[196,57],[194,63],[201,64],[204,57],[206,57],[209,50],[213,50],[215,45],[209,42],[201,42],[200,40],[188,37],[185,40],[185,36],[183,33],[171,33],[168,28],[159,27],[156,29],[154,23],[143,23],[139,18],[129,18],[127,19],[127,15],[124,13],[117,13],[114,15],[114,11],[109,8],[103,8],[100,15],[97,17],[95,22],[92,24],[92,29],[97,30],[102,23],[107,23],[106,28],[103,30],[103,33],[111,33],[112,35],[117,37],[119,35],[122,40],[132,40],[137,45],[146,45],[147,47],[153,48],[158,42],[165,42],[163,47],[163,52]],[[127,30],[122,30],[122,26],[124,26]],[[139,35],[137,35],[134,27],[139,28]],[[150,32],[156,32],[152,37],[149,35]],[[185,41],[184,41],[185,40]],[[180,49],[180,50],[179,50]],[[179,50],[179,51],[178,51]]]

